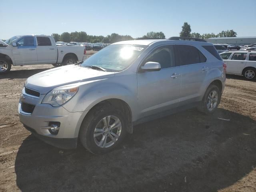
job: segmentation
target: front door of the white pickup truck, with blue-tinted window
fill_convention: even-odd
[[[12,49],[15,65],[37,64],[36,41],[33,36],[25,36],[16,44]]]

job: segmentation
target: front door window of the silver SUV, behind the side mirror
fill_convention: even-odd
[[[146,62],[158,62],[161,69],[174,67],[174,50],[172,45],[161,46],[153,50],[150,55],[144,60]],[[142,65],[142,66],[143,66]]]

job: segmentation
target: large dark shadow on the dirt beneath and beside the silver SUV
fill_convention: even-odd
[[[213,116],[193,109],[140,124],[100,156],[30,135],[16,156],[16,184],[22,191],[216,191],[256,166],[255,137],[254,120],[220,108]]]

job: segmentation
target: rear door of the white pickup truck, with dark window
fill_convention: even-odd
[[[49,37],[36,37],[37,58],[40,64],[53,64],[57,61],[57,46]]]

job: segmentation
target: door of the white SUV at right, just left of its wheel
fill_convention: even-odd
[[[227,63],[227,71],[232,74],[242,74],[247,55],[245,52],[235,52]]]

